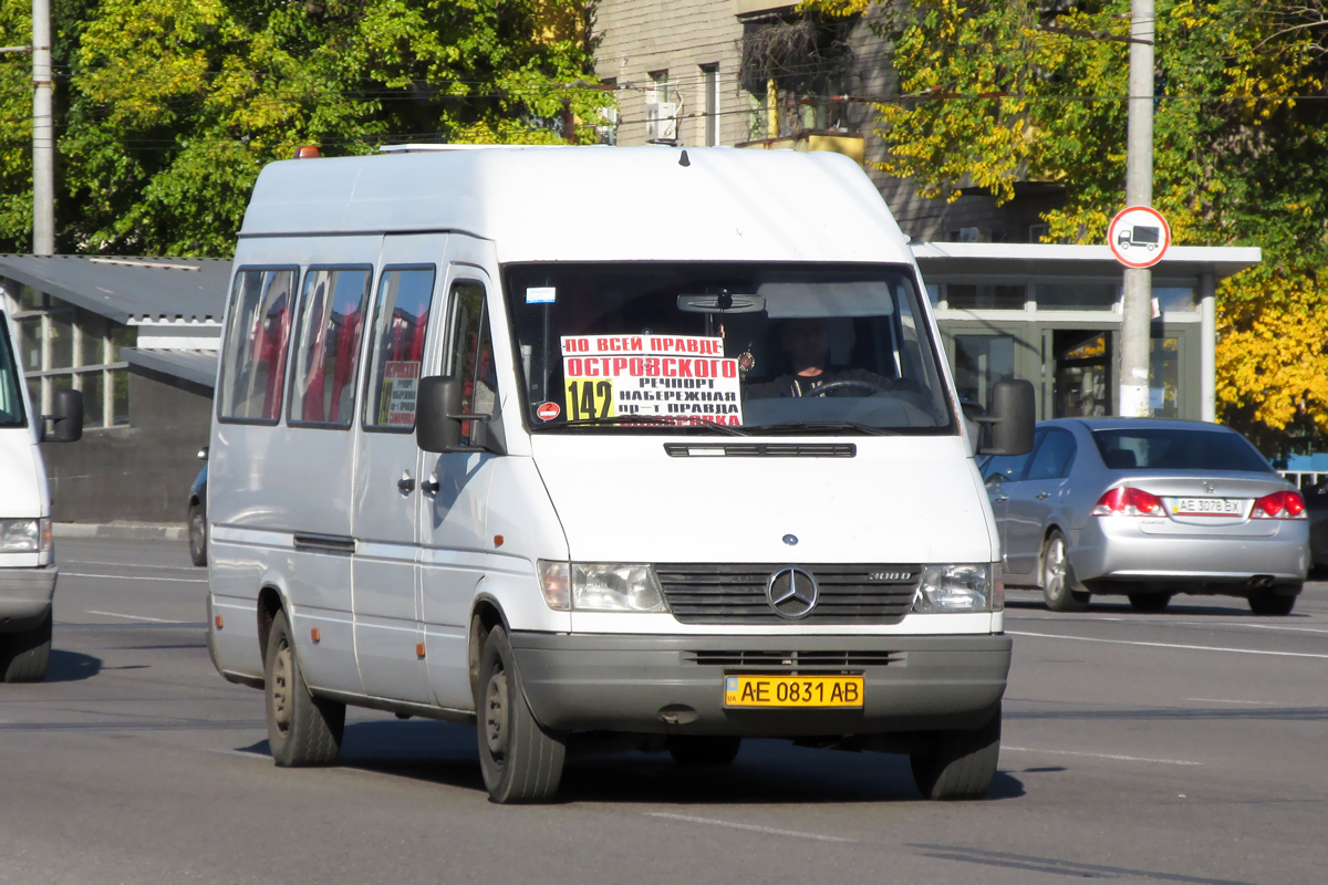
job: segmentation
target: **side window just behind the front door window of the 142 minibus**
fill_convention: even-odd
[[[414,430],[434,268],[388,268],[373,305],[373,354],[365,389],[367,427]]]

